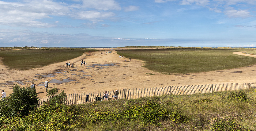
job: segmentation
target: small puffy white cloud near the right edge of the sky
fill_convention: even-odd
[[[247,10],[237,11],[236,9],[230,9],[230,10],[226,10],[224,12],[225,12],[225,15],[227,15],[229,18],[248,18],[248,17],[252,17],[252,15],[250,15],[250,12],[247,11]]]

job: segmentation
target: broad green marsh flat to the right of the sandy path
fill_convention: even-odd
[[[240,49],[135,49],[118,50],[126,58],[140,59],[150,70],[172,73],[194,73],[239,68],[256,63],[256,58],[232,54]],[[247,49],[249,50],[249,49]]]

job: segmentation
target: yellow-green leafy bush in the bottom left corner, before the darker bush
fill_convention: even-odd
[[[80,127],[82,124],[78,119],[83,119],[80,108],[64,104],[64,99],[63,91],[57,95],[54,92],[49,102],[30,111],[28,116],[0,117],[0,128],[3,131],[63,131]]]

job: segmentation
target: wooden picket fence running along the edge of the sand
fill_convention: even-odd
[[[119,89],[118,99],[138,99],[141,97],[152,97],[161,95],[191,95],[195,93],[212,93],[227,90],[240,90],[247,88],[255,88],[256,83],[226,83],[226,84],[208,84],[208,85],[182,85],[182,86],[162,86],[152,88],[133,88],[133,89]],[[109,93],[109,100],[114,95],[114,90]],[[95,101],[97,95],[103,98],[104,92],[96,93],[78,93],[69,94],[66,97],[65,103],[72,104],[84,104]],[[41,97],[39,99],[39,105],[42,105],[44,101],[48,101],[49,97]]]

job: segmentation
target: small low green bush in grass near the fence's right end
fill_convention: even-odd
[[[239,90],[238,92],[230,92],[227,96],[228,99],[249,101],[250,97],[244,92],[244,90]]]

